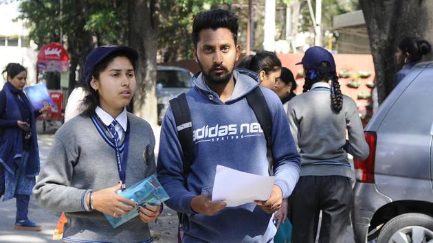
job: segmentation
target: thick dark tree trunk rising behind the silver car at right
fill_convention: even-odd
[[[433,40],[433,4],[428,0],[359,0],[359,5],[370,38],[380,104],[394,87],[399,42],[406,36]]]

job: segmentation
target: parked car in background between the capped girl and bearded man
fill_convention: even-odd
[[[192,87],[192,73],[181,67],[157,66],[158,124],[166,115],[169,101]]]

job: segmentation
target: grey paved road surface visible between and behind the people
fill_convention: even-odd
[[[54,141],[54,132],[60,124],[54,122],[54,126],[49,126],[47,131],[43,134],[38,135],[39,152],[41,155],[41,166],[47,157],[49,148],[52,146]],[[38,124],[38,130],[41,132],[41,124]],[[159,140],[159,128],[155,128],[155,137]],[[156,150],[157,151],[157,150]],[[43,231],[31,232],[31,231],[15,231],[14,220],[15,220],[15,200],[8,200],[0,203],[0,243],[13,243],[13,242],[25,242],[25,243],[43,243],[43,242],[58,242],[52,240],[52,233],[56,227],[57,220],[60,213],[54,211],[48,211],[42,209],[33,200],[30,200],[30,212],[29,217],[42,225]],[[166,207],[164,213],[159,217],[157,223],[151,223],[151,233],[155,239],[155,243],[168,243],[176,242],[176,231],[177,231],[177,215],[176,213]],[[353,232],[351,227],[348,227],[346,233],[346,243],[353,242]]]

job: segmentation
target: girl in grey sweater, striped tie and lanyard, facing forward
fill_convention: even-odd
[[[97,47],[87,56],[88,95],[82,113],[56,132],[33,192],[48,209],[64,211],[63,242],[152,242],[148,222],[162,207],[137,205],[116,192],[155,173],[155,137],[143,119],[126,112],[136,88],[137,51]],[[139,217],[113,229],[115,218]]]

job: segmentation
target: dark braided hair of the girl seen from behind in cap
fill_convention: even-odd
[[[329,62],[320,62],[320,67],[318,70],[310,69],[305,73],[305,82],[302,88],[302,92],[307,92],[311,89],[311,86],[315,82],[320,82],[322,80],[331,80],[331,106],[335,113],[340,113],[343,108],[343,94],[340,89],[340,83],[338,82],[338,76],[335,71],[330,70]]]

